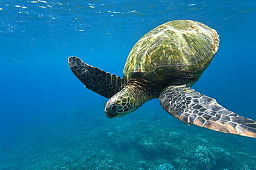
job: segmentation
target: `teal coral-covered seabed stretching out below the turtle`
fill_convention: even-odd
[[[0,169],[255,168],[254,139],[187,127],[168,115],[142,112],[108,120],[93,114],[63,118],[24,136],[0,153]]]

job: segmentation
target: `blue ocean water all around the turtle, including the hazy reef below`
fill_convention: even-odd
[[[193,88],[256,120],[255,16],[252,0],[1,1],[0,169],[256,169],[255,138],[186,126],[157,99],[107,119],[67,64],[122,76],[149,30],[200,21],[220,47]]]

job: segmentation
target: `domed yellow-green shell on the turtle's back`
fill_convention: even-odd
[[[131,49],[123,70],[125,81],[143,78],[161,83],[180,73],[200,76],[218,47],[219,35],[203,23],[164,23],[145,34]]]

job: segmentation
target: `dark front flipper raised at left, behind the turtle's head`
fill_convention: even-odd
[[[100,94],[106,98],[111,98],[124,86],[124,79],[115,74],[104,72],[98,67],[92,67],[84,63],[75,56],[68,58],[68,65],[73,74],[84,84],[87,89]]]

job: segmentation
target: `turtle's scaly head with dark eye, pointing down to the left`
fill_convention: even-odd
[[[140,105],[136,103],[129,89],[124,88],[105,103],[105,114],[108,118],[120,118],[135,111],[138,107]]]

